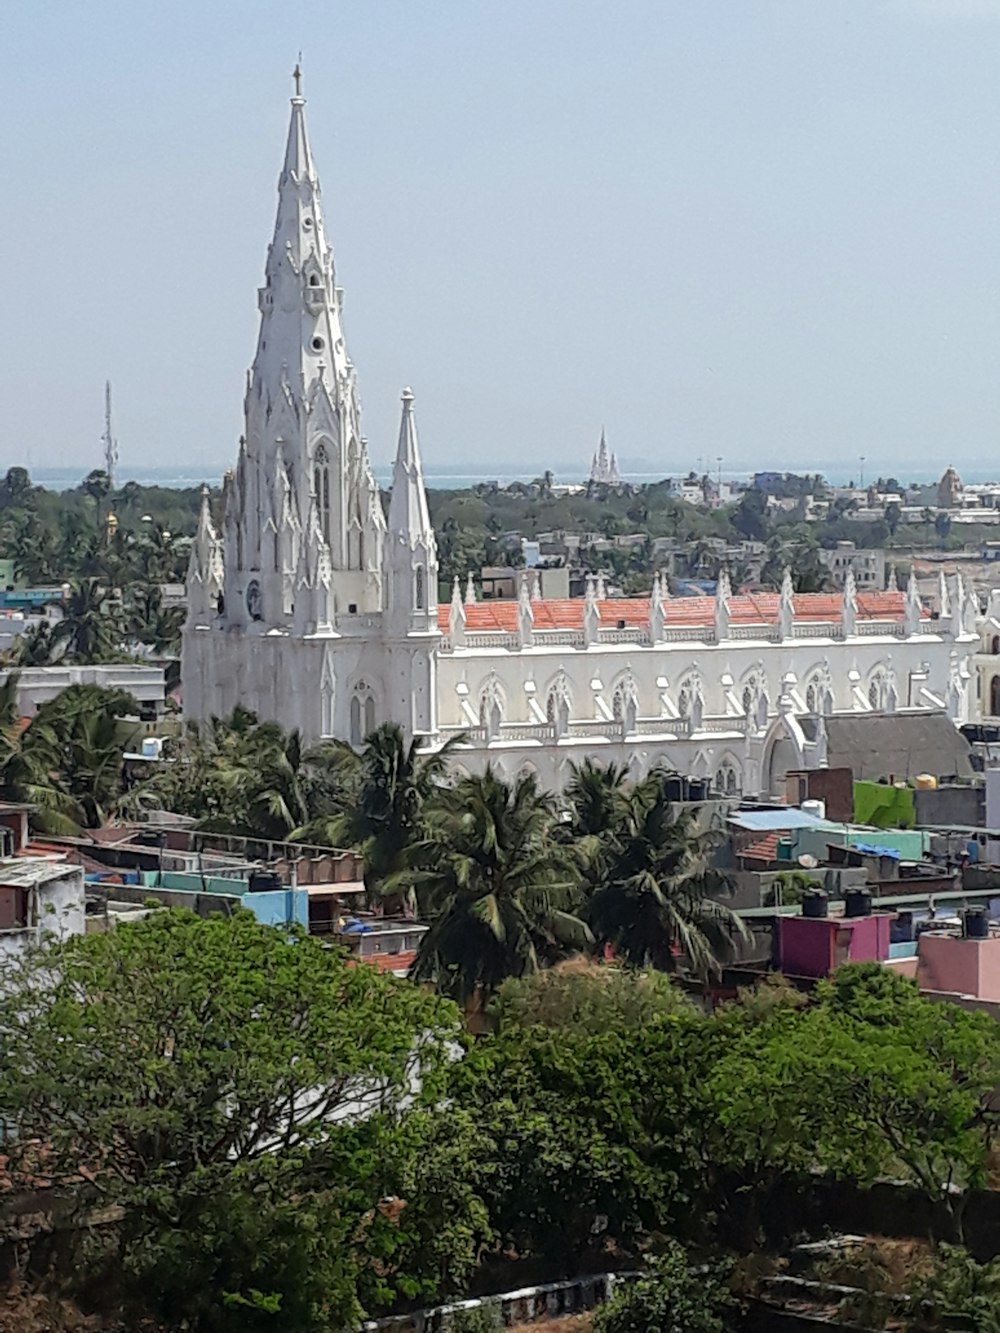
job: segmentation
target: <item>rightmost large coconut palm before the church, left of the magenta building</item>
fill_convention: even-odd
[[[596,938],[636,966],[717,972],[748,933],[719,901],[727,882],[713,865],[716,841],[691,810],[672,808],[660,774],[641,782],[608,840],[607,878],[587,908]]]

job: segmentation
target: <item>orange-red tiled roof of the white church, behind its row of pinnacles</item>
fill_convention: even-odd
[[[779,619],[781,599],[776,592],[737,593],[729,599],[729,624],[732,625],[775,625]],[[901,620],[905,597],[901,592],[859,592],[859,620]],[[833,592],[796,593],[793,599],[797,621],[840,620],[843,597]],[[583,629],[585,599],[533,601],[531,604],[536,629]],[[601,624],[617,628],[624,621],[627,629],[644,628],[649,624],[648,597],[605,599],[597,603]],[[444,603],[437,608],[437,624],[448,631],[451,607]],[[927,612],[924,613],[927,615]],[[668,625],[715,624],[715,597],[668,597],[664,601],[664,620]],[[477,601],[465,607],[465,628],[473,633],[517,632],[517,601]]]

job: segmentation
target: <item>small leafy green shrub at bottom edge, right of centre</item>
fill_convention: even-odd
[[[725,1333],[736,1302],[716,1277],[692,1273],[672,1240],[636,1282],[617,1286],[599,1306],[595,1333]]]

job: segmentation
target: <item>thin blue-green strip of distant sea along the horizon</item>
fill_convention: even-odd
[[[95,467],[99,460],[95,460]],[[197,464],[188,463],[176,468],[143,468],[131,467],[128,463],[120,465],[120,480],[121,481],[137,481],[144,487],[169,487],[171,489],[184,489],[187,487],[200,487],[204,481],[209,485],[219,485],[221,483],[223,472],[231,463],[223,463],[217,465],[212,464]],[[7,471],[8,464],[0,461],[0,476]],[[872,467],[865,465],[864,480],[867,483],[873,481],[879,476],[896,477],[904,485],[909,483],[929,483],[937,481],[944,471],[944,464],[936,464],[931,468],[920,469],[900,469],[892,467]],[[79,487],[84,479],[85,468],[31,468],[32,481],[37,485],[45,487],[48,491],[71,491],[73,487]],[[509,464],[501,468],[483,469],[480,472],[459,472],[447,467],[424,468],[424,480],[428,487],[445,491],[459,491],[468,487],[477,485],[484,481],[497,481],[500,485],[508,485],[511,481],[532,481],[535,480],[544,468],[519,468],[516,464]],[[781,472],[820,472],[831,483],[831,485],[847,485],[848,481],[857,483],[859,473],[855,468],[853,472],[840,467],[824,468],[819,464],[800,463],[797,467],[781,467],[775,465],[773,471]],[[1000,464],[991,471],[989,468],[968,468],[964,469],[959,467],[959,473],[965,483],[980,483],[980,481],[995,481],[1000,479]],[[556,483],[563,485],[572,485],[587,480],[587,475],[580,468],[575,467],[552,467]],[[652,465],[645,460],[641,465],[637,463],[635,468],[629,468],[627,464],[621,468],[621,476],[625,481],[632,481],[636,485],[648,484],[651,481],[663,481],[664,477],[677,477],[684,476],[688,468],[681,465],[653,471]],[[388,487],[392,483],[392,467],[389,464],[384,467],[376,467],[375,475],[383,487]],[[716,476],[716,469],[711,469],[711,475]],[[745,481],[751,476],[749,471],[729,471],[723,468],[723,480],[725,481]]]

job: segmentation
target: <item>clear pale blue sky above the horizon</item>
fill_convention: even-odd
[[[0,465],[228,465],[304,53],[376,464],[1000,473],[1000,0],[21,0]]]

